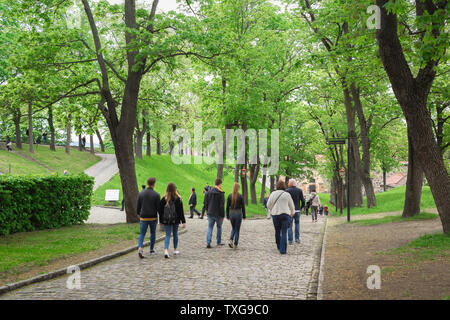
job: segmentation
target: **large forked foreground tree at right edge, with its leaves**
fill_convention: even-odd
[[[448,1],[415,1],[415,26],[419,57],[417,75],[413,75],[398,35],[398,13],[405,7],[398,2],[377,0],[381,9],[381,28],[377,39],[381,61],[402,108],[409,137],[418,162],[430,184],[444,233],[450,233],[450,177],[433,134],[428,95],[436,77],[436,66],[448,46],[444,31]]]

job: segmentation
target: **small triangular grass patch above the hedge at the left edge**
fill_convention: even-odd
[[[0,150],[0,172],[3,174],[9,173],[11,165],[11,174],[50,174],[46,168],[27,160],[12,152]]]

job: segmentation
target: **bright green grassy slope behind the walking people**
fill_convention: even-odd
[[[217,174],[216,165],[207,164],[180,164],[176,165],[172,162],[168,155],[152,155],[151,157],[144,157],[136,159],[136,175],[139,185],[145,184],[147,178],[156,177],[155,190],[163,195],[165,193],[167,184],[169,182],[175,183],[178,188],[178,192],[183,198],[185,209],[188,208],[188,199],[190,195],[190,189],[195,188],[197,193],[197,210],[201,211],[203,204],[203,188],[208,182],[210,185],[214,184],[214,180]],[[231,193],[234,174],[231,170],[224,170],[224,183],[222,185],[227,197]],[[121,189],[119,175],[114,176],[109,182],[98,188],[94,193],[94,204],[104,205],[107,202],[105,199],[105,190],[107,189]],[[140,189],[140,187],[139,187]],[[261,192],[261,184],[257,182],[256,190],[259,200]],[[249,199],[250,200],[250,199]],[[120,193],[120,202],[122,201],[122,192]],[[247,211],[251,214],[265,214],[265,209],[262,205],[250,204]]]

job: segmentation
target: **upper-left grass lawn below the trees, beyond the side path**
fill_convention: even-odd
[[[86,151],[78,151],[75,148],[70,149],[69,155],[65,152],[64,147],[56,147],[56,151],[51,151],[48,145],[39,145],[39,147],[34,147],[34,153],[30,153],[28,144],[24,144],[20,152],[38,160],[58,173],[63,173],[64,170],[69,171],[69,173],[81,173],[100,161],[100,157]]]

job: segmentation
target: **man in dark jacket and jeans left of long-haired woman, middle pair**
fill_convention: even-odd
[[[217,224],[217,245],[222,243],[222,223],[225,218],[225,192],[222,191],[222,179],[216,179],[213,189],[205,195],[205,210],[208,214],[208,233],[206,235],[206,247],[211,248],[211,238],[214,224]]]

